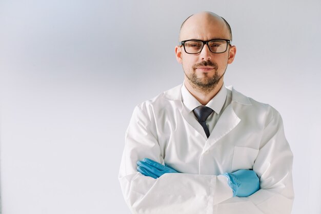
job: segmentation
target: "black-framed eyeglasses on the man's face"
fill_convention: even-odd
[[[230,40],[217,38],[215,40],[202,41],[202,40],[185,40],[179,43],[184,46],[186,53],[196,54],[203,50],[204,45],[207,45],[212,53],[224,53],[227,50]]]

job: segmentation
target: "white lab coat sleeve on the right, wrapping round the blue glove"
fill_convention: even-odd
[[[260,178],[260,189],[249,197],[235,197],[219,204],[218,213],[240,213],[237,210],[247,214],[291,213],[294,200],[293,155],[285,138],[281,116],[272,107],[269,114],[272,116],[263,130],[253,165],[253,170]]]

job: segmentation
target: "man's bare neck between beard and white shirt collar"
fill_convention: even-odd
[[[223,86],[223,80],[219,81],[219,83],[212,90],[200,90],[199,88],[193,86],[188,80],[185,80],[184,83],[187,90],[194,96],[194,98],[200,104],[204,106],[214,98],[214,96],[218,93],[220,88],[222,88]]]

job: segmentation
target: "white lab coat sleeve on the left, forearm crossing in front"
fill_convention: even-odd
[[[127,205],[137,214],[213,214],[215,204],[233,196],[225,176],[167,173],[153,179],[137,172],[143,158],[164,163],[150,112],[136,107],[126,131],[118,178]]]

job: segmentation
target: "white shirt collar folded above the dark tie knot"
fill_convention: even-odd
[[[185,84],[183,84],[183,86],[180,90],[182,93],[182,101],[189,111],[192,111],[196,107],[202,105],[189,92],[189,90],[186,88]],[[222,110],[222,107],[225,103],[226,95],[227,95],[227,89],[223,85],[222,88],[220,88],[220,90],[218,91],[218,93],[214,96],[214,98],[212,98],[212,100],[210,100],[210,102],[208,102],[208,104],[206,106],[213,109],[216,113],[219,113],[220,110]]]

